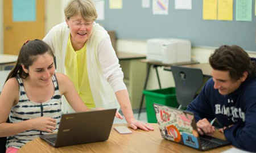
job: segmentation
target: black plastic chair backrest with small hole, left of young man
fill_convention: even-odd
[[[171,71],[174,76],[179,109],[187,107],[203,85],[203,72],[201,69],[182,66],[171,66]]]

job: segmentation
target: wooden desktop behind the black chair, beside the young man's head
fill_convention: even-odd
[[[189,64],[189,65],[182,65],[182,66],[198,68],[203,71],[203,74],[205,76],[209,76],[209,77],[212,76],[212,74],[210,73],[210,70],[212,70],[212,67],[210,67],[209,63]],[[171,66],[164,67],[164,70],[171,71]]]

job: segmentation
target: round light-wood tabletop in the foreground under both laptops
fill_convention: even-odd
[[[114,126],[127,126],[126,124],[114,124]],[[133,134],[118,134],[112,127],[109,139],[104,142],[86,143],[67,147],[54,148],[40,138],[36,138],[24,145],[19,153],[38,152],[200,152],[190,147],[167,141],[160,136],[157,124],[152,124],[154,131],[133,130]],[[225,139],[224,135],[216,131],[214,137]],[[233,146],[225,146],[207,152],[221,152]]]

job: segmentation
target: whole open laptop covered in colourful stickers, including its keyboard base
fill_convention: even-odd
[[[193,113],[164,105],[154,104],[156,118],[163,138],[200,151],[230,145],[208,135],[200,135],[197,131]]]

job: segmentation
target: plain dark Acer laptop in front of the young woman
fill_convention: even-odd
[[[106,141],[117,109],[63,114],[57,134],[40,135],[53,147]]]

